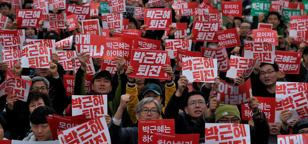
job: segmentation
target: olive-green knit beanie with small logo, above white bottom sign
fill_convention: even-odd
[[[241,121],[240,111],[237,108],[237,106],[235,106],[235,105],[219,104],[219,107],[218,107],[218,109],[215,112],[215,122],[217,123],[217,121],[220,118],[222,118],[224,116],[228,116],[228,115],[235,115]]]

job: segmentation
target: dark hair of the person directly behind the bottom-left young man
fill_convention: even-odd
[[[45,106],[49,106],[51,107],[51,102],[50,102],[50,98],[49,95],[46,93],[42,93],[40,91],[31,91],[28,95],[28,99],[27,99],[27,106],[29,108],[30,102],[32,102],[33,100],[38,100],[42,98]]]

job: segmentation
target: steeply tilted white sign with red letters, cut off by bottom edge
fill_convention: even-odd
[[[72,135],[78,135],[72,137]],[[105,117],[93,118],[78,126],[57,132],[60,143],[111,143]]]

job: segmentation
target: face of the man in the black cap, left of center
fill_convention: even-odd
[[[111,92],[111,81],[108,77],[99,77],[94,79],[92,90],[101,94],[108,94]]]

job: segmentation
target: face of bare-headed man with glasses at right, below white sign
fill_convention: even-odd
[[[264,74],[262,74],[264,73]],[[269,74],[271,73],[271,74]],[[276,81],[278,79],[277,72],[275,71],[272,65],[264,65],[260,68],[260,76],[261,83],[266,87],[276,85]]]

